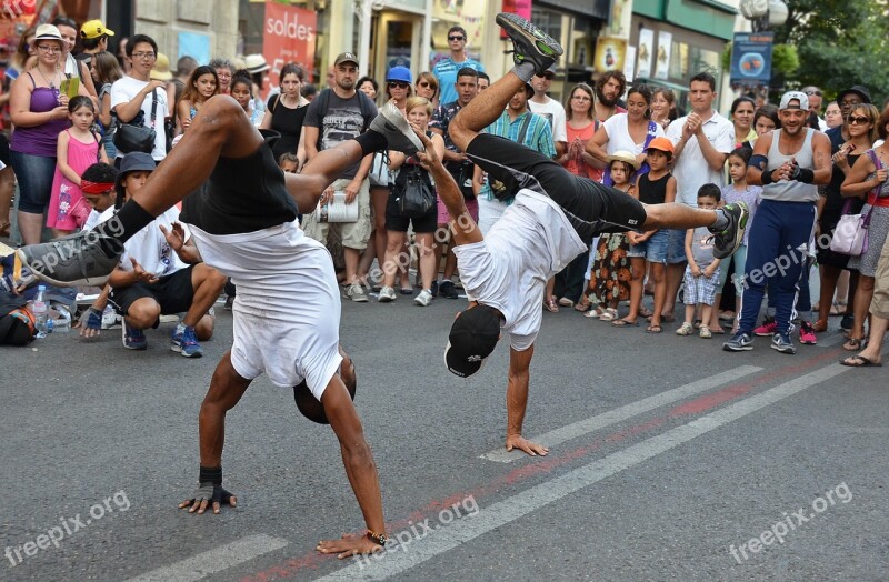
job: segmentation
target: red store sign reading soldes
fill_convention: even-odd
[[[279,86],[281,68],[288,62],[302,67],[311,78],[314,64],[317,16],[311,10],[278,2],[266,2],[266,23],[262,28],[262,56],[269,63],[269,81]]]

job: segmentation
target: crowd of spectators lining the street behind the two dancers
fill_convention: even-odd
[[[482,232],[511,202],[509,197],[495,197],[495,192],[515,189],[516,184],[489,181],[448,134],[449,123],[459,111],[490,84],[482,63],[469,57],[467,33],[461,27],[448,31],[449,54],[416,79],[401,66],[384,71],[379,82],[371,77],[359,78],[357,56],[344,52],[334,60],[320,91],[296,63],[284,64],[278,87],[268,87],[269,66],[260,54],[234,62],[214,58],[209,63],[182,57],[171,71],[169,59],[150,37],[119,39],[118,52],[112,54],[109,41],[113,37],[114,32],[99,20],[78,29],[66,18],[22,34],[8,63],[0,98],[14,128],[8,146],[4,137],[0,141],[0,235],[10,231],[9,207],[16,181],[14,212],[22,243],[40,242],[44,227],[53,229],[56,235],[83,228],[90,213],[77,209],[87,203],[94,207],[97,197],[94,182],[82,178],[87,168],[110,161],[124,170],[122,164],[129,164],[129,171],[113,180],[111,190],[126,188],[133,174],[147,177],[147,160],[162,163],[169,149],[200,116],[203,103],[217,94],[230,94],[257,128],[273,133],[270,144],[276,161],[284,171],[294,172],[311,163],[318,152],[366,131],[379,107],[394,107],[433,138],[436,153],[458,182]],[[756,160],[751,162],[751,153],[763,136],[780,133],[786,109],[757,107],[752,98],[741,96],[722,117],[713,108],[717,86],[708,72],[691,77],[687,114],[671,89],[628,83],[620,71],[598,74],[589,84],[566,86],[565,102],[560,102],[551,94],[557,76],[553,67],[533,77],[487,131],[646,203],[676,201],[709,208],[743,201],[751,209],[751,224],[756,221],[762,188],[749,184],[748,175],[758,174],[762,168],[755,165]],[[81,81],[73,89],[72,79]],[[807,265],[797,282],[799,298],[795,298],[798,329],[803,343],[812,343],[815,332],[828,330],[829,318],[840,317],[840,327],[849,331],[843,347],[859,350],[867,344],[868,305],[889,230],[885,169],[889,157],[881,143],[889,129],[889,112],[875,107],[868,90],[860,86],[840,92],[829,103],[823,103],[816,87],[803,88],[800,94],[806,96],[805,103],[797,99],[796,107],[805,106],[808,130],[827,132],[832,159],[830,180],[818,188],[817,229],[813,225],[810,241],[811,254],[817,254],[818,269],[813,272],[820,279],[820,294],[812,305],[808,300],[812,270]],[[151,130],[149,141],[134,144],[133,128]],[[139,163],[133,161],[136,153]],[[459,297],[443,205],[438,202],[423,215],[401,211],[399,201],[408,182],[417,180],[434,189],[418,160],[398,152],[378,152],[331,184],[318,209],[300,209],[306,233],[331,249],[344,297],[354,302],[369,298],[390,302],[398,294],[416,295],[413,301],[421,307],[431,304],[434,298]],[[138,184],[133,182],[132,188]],[[870,215],[870,244],[861,257],[849,258],[829,247],[829,235],[840,217],[849,213]],[[173,230],[178,211],[177,217],[164,217],[167,222],[156,230],[160,232],[163,227],[169,235],[154,232],[151,241],[143,242],[160,244],[167,254],[152,254],[148,262],[156,268],[151,269],[134,259],[121,264],[121,273],[127,274],[112,278],[106,292],[112,302],[127,295],[124,288],[137,284],[156,292],[152,285],[186,268],[174,258],[180,251],[188,257],[188,230]],[[682,290],[686,317],[677,333],[697,332],[703,338],[733,333],[738,331],[746,287],[747,252],[758,241],[746,235],[736,255],[720,263],[703,259],[707,244],[699,238],[683,230],[605,232],[590,252],[549,282],[540,298],[541,309],[556,312],[573,308],[587,318],[617,327],[636,327],[647,318],[646,330],[659,333],[665,323],[676,320],[675,307]],[[137,242],[132,244],[140,244],[141,239],[133,240]],[[128,249],[127,257],[146,254]],[[410,279],[412,265],[414,284]],[[183,330],[177,333],[180,351],[200,353],[194,344],[211,333],[211,324],[208,328],[201,321],[212,318],[212,302],[207,303],[203,297],[198,301],[196,293],[199,288],[218,293],[224,281],[219,273],[198,271],[202,278],[191,277],[190,290],[181,283],[181,274],[177,284],[163,285],[151,309],[134,309],[132,301],[116,303],[124,315],[128,348],[143,347],[140,330],[169,311],[163,303],[169,300],[176,307],[197,304],[180,310],[188,312],[182,318],[188,345],[182,343]],[[231,285],[226,289],[229,295],[237,293]],[[173,301],[164,294],[169,292],[183,295]],[[643,301],[647,292],[653,295],[652,309]],[[621,314],[623,302],[629,303],[629,311]],[[104,305],[100,302],[94,308],[100,311]],[[762,322],[766,332],[775,331],[773,309],[772,302]]]

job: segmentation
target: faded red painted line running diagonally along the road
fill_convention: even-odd
[[[799,362],[797,364],[790,364],[783,368],[779,368],[778,370],[775,370],[773,372],[759,377],[750,382],[731,385],[718,392],[715,392],[713,394],[708,394],[698,398],[696,400],[692,400],[690,402],[687,402],[685,404],[680,404],[671,409],[667,414],[662,417],[655,417],[651,420],[643,422],[641,424],[635,424],[622,431],[615,432],[612,434],[609,434],[608,436],[605,436],[602,439],[592,442],[591,444],[580,446],[560,456],[547,455],[540,458],[540,460],[536,461],[533,464],[527,464],[525,466],[516,468],[509,473],[500,475],[490,481],[489,483],[480,485],[476,489],[457,492],[439,500],[432,500],[422,508],[412,511],[407,518],[388,523],[387,531],[390,533],[400,532],[402,530],[408,529],[413,523],[422,523],[423,520],[434,519],[440,511],[451,508],[455,504],[459,504],[470,495],[475,498],[476,501],[478,502],[479,499],[492,495],[499,492],[506,485],[515,485],[516,483],[520,483],[532,476],[543,473],[549,473],[559,466],[570,463],[571,461],[576,461],[578,459],[587,456],[588,454],[600,449],[602,444],[613,444],[621,442],[625,439],[637,436],[639,434],[650,431],[651,429],[661,427],[665,423],[667,423],[670,419],[675,419],[677,417],[701,414],[702,412],[717,408],[720,404],[738,399],[747,394],[751,390],[753,390],[756,387],[762,385],[772,380],[777,380],[802,371],[810,371],[810,369],[815,364],[821,363],[825,360],[836,359],[839,351],[840,349],[837,348],[833,350],[829,350],[820,355],[816,355],[807,360],[803,360],[802,362]],[[336,555],[323,555],[319,554],[316,551],[312,551],[300,558],[292,558],[286,560],[278,565],[270,566],[266,570],[262,570],[261,572],[257,572],[256,574],[244,576],[241,579],[241,582],[269,582],[271,580],[292,578],[302,570],[307,569],[316,570],[320,565],[327,563],[330,560],[336,560]],[[343,560],[342,562],[350,563],[348,559]]]

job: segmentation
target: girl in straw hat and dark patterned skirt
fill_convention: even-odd
[[[611,185],[633,195],[636,172],[639,162],[628,151],[617,151],[608,157],[608,169]],[[630,298],[630,259],[627,253],[630,243],[622,232],[603,233],[596,247],[596,259],[590,270],[588,292],[598,307],[587,311],[587,318],[599,318],[600,321],[615,321],[618,318],[618,302]],[[583,298],[586,299],[586,298]]]

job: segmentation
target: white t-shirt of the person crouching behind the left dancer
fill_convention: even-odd
[[[114,215],[114,207],[107,209],[99,217],[99,222],[104,222]],[[123,271],[132,271],[130,257],[136,259],[146,272],[163,277],[188,267],[176,254],[176,251],[167,243],[167,238],[160,231],[160,225],[170,231],[173,222],[179,222],[179,209],[172,207],[167,212],[156,218],[151,223],[137,232],[123,243],[123,254],[120,257],[118,267]],[[186,240],[191,237],[191,231],[187,224],[182,224],[186,231]]]

